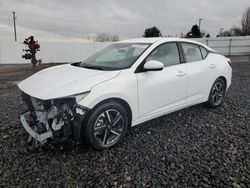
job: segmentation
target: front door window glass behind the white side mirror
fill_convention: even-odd
[[[180,64],[179,51],[176,43],[166,43],[156,47],[146,61],[156,60],[165,67]]]

